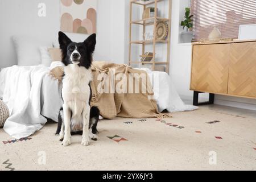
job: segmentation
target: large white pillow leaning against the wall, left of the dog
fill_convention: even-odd
[[[18,65],[20,66],[41,64],[39,47],[51,47],[51,43],[29,36],[13,36],[13,41],[18,58]]]

